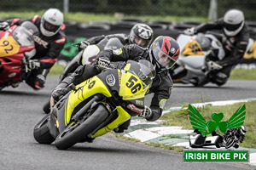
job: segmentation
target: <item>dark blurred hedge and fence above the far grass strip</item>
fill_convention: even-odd
[[[255,0],[1,0],[1,11],[42,10],[60,8],[64,12],[84,12],[94,14],[133,15],[175,15],[205,17],[209,10],[216,10],[213,18],[220,17],[229,8],[240,8],[247,20],[255,20]],[[212,12],[213,13],[213,12]]]

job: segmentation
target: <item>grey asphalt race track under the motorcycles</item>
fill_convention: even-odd
[[[46,87],[34,91],[25,83],[0,92],[0,169],[255,169],[232,163],[183,163],[183,153],[161,150],[108,134],[92,144],[76,144],[57,150],[54,144],[38,144],[33,127],[44,116],[42,105],[49,98],[58,77],[48,77]],[[223,88],[209,85],[192,88],[175,84],[170,106],[195,103],[198,94],[206,101],[255,98],[256,81],[229,81]]]

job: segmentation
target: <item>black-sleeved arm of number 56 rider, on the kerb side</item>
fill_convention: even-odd
[[[160,79],[159,79],[160,78]],[[156,121],[162,115],[162,111],[166,105],[166,100],[170,98],[172,93],[172,78],[169,73],[166,73],[166,76],[162,77],[157,75],[153,81],[152,92],[154,96],[151,101],[150,109],[152,111],[152,116],[147,120],[152,122]]]

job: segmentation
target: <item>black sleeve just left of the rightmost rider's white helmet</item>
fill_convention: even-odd
[[[223,27],[223,19],[215,20],[214,22],[202,23],[199,26],[195,27],[195,32],[205,32],[211,30],[222,29]]]

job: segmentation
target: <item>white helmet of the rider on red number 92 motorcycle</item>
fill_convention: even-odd
[[[40,30],[46,37],[54,36],[63,24],[63,14],[57,8],[49,8],[42,17]]]

